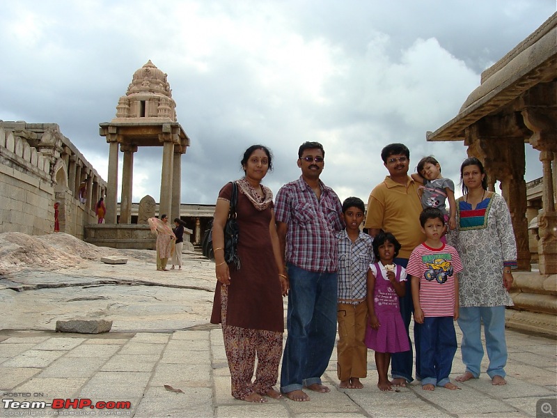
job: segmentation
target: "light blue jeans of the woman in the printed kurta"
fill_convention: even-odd
[[[475,378],[480,376],[483,357],[481,323],[489,358],[487,374],[505,377],[507,343],[505,341],[505,307],[460,307],[458,326],[462,330],[462,362]]]

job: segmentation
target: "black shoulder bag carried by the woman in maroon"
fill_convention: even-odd
[[[224,261],[227,264],[232,264],[236,270],[240,270],[240,257],[238,257],[238,235],[240,230],[236,222],[236,205],[238,203],[238,188],[236,182],[232,183],[232,196],[230,197],[230,210],[228,211],[228,219],[226,226],[224,226]],[[203,234],[201,241],[201,249],[203,255],[211,260],[214,260],[213,251],[213,221],[207,225],[207,229]]]

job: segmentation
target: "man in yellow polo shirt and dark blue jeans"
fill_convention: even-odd
[[[368,200],[368,215],[363,225],[375,237],[379,231],[390,232],[400,242],[402,248],[395,264],[406,268],[412,250],[425,240],[420,226],[422,205],[418,195],[418,183],[408,176],[410,151],[404,144],[389,144],[381,151],[381,158],[389,176],[385,177],[371,192]],[[400,314],[405,322],[406,332],[414,313],[410,281],[406,282],[406,295],[400,298]],[[414,324],[416,343],[416,378],[420,376],[419,328]],[[410,340],[410,336],[408,336]],[[391,355],[392,384],[406,386],[412,378],[412,344],[410,350]]]

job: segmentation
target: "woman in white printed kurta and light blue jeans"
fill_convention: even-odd
[[[489,357],[487,374],[494,385],[505,385],[505,307],[513,304],[508,290],[513,281],[511,268],[517,265],[515,235],[505,200],[487,192],[483,164],[474,157],[464,160],[460,176],[464,196],[457,200],[457,229],[448,234],[448,242],[456,247],[463,266],[458,325],[466,371],[456,380],[464,382],[480,376],[483,323]]]

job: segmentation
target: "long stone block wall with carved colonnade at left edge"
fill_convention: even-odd
[[[85,181],[92,190],[81,203],[77,189]],[[0,121],[0,233],[54,232],[58,202],[60,231],[83,239],[85,224],[96,222],[94,206],[105,189],[58,125]]]

